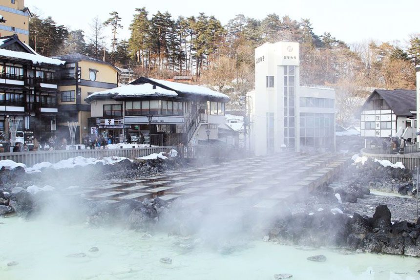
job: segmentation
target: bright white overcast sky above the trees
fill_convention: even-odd
[[[419,0],[257,0],[252,4],[246,0],[26,0],[25,6],[43,17],[51,16],[59,24],[83,29],[85,34],[93,17],[105,21],[109,12],[115,10],[124,26],[119,36],[122,39],[129,37],[128,26],[134,9],[143,6],[149,16],[158,10],[168,11],[174,19],[179,15],[189,17],[205,12],[222,24],[237,14],[256,19],[270,13],[280,17],[289,15],[294,20],[309,18],[315,34],[330,32],[346,43],[398,40],[404,46],[410,34],[420,33]]]

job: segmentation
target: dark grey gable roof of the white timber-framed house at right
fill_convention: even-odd
[[[397,116],[414,117],[410,110],[417,110],[416,90],[410,89],[375,89],[368,97],[365,104],[369,102],[375,94],[385,100],[388,106],[394,111]],[[364,105],[363,105],[364,107]]]

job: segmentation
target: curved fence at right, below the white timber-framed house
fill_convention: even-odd
[[[407,147],[405,147],[404,152],[405,154],[384,153],[382,147],[364,148],[360,150],[360,153],[362,156],[376,158],[379,160],[386,159],[392,163],[396,163],[400,161],[406,168],[414,170],[420,164],[420,153],[419,154],[407,154],[407,153],[419,152],[419,148],[417,144],[407,145]]]

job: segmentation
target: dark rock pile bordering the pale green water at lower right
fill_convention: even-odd
[[[379,205],[373,217],[328,211],[289,215],[276,221],[269,236],[270,240],[287,244],[420,257],[420,219],[417,223],[391,222],[386,205]]]

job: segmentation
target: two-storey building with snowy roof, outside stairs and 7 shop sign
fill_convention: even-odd
[[[127,134],[143,134],[147,142],[151,116],[152,145],[194,145],[216,142],[229,97],[203,86],[141,77],[94,92],[85,101],[91,108],[91,126],[103,135],[120,135],[120,142]]]

